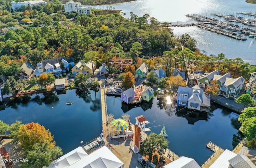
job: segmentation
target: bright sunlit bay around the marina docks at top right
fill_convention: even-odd
[[[91,7],[106,9],[110,6],[122,10],[126,13],[126,18],[130,18],[130,12],[133,12],[139,17],[149,14],[160,22],[175,23],[193,22],[185,14],[208,16],[210,13],[236,15],[236,12],[256,12],[256,4],[248,4],[245,0],[137,0],[121,4]],[[248,16],[244,17],[248,18]],[[256,42],[254,42],[254,39],[249,39],[248,36],[247,41],[239,41],[197,27],[174,28],[176,36],[184,33],[188,33],[192,38],[195,38],[197,40],[197,47],[207,55],[224,53],[226,58],[240,57],[250,64],[256,64]]]

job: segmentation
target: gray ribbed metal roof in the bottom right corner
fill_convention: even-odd
[[[234,158],[228,160],[232,168],[256,168],[252,161],[244,155],[238,154]]]

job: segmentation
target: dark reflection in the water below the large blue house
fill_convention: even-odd
[[[188,124],[194,125],[199,120],[208,121],[208,114],[200,111],[189,111],[188,109],[176,109],[176,116],[184,117]]]

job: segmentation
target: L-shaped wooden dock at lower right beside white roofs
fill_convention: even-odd
[[[220,146],[217,146],[211,141],[206,144],[206,148],[214,151],[214,153],[204,162],[204,164],[202,164],[201,168],[209,168],[215,162],[215,160],[217,160],[217,158],[224,152],[224,149],[220,148]]]

